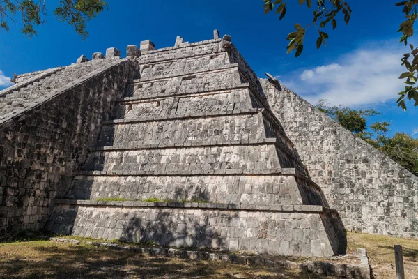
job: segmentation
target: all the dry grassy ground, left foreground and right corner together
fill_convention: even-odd
[[[403,246],[405,278],[418,278],[418,241],[348,234],[348,252],[366,248],[375,278],[395,278],[394,244]],[[387,255],[382,255],[387,254]],[[52,241],[0,243],[0,278],[325,278],[279,266],[149,257],[130,251]]]

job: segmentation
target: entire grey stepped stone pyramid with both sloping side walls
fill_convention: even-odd
[[[323,257],[346,229],[418,232],[417,177],[216,30],[17,75],[0,143],[0,234]]]

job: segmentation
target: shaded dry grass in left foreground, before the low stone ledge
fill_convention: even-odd
[[[149,257],[52,241],[0,243],[0,278],[309,278],[279,267]],[[314,278],[314,277],[310,277]],[[315,277],[318,278],[318,277]],[[319,277],[320,278],[320,277]]]

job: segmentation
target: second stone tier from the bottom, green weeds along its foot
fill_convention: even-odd
[[[301,178],[302,177],[302,178]],[[309,195],[305,199],[299,191]],[[316,184],[295,169],[280,174],[94,176],[76,175],[68,192],[74,199],[201,200],[242,204],[326,205]]]

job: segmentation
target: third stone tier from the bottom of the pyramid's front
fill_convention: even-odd
[[[183,174],[196,170],[210,173],[232,169],[261,169],[269,173],[272,169],[280,168],[280,159],[276,146],[269,142],[256,145],[93,151],[88,154],[84,168],[106,172],[135,170],[155,174],[177,172],[178,169]]]

